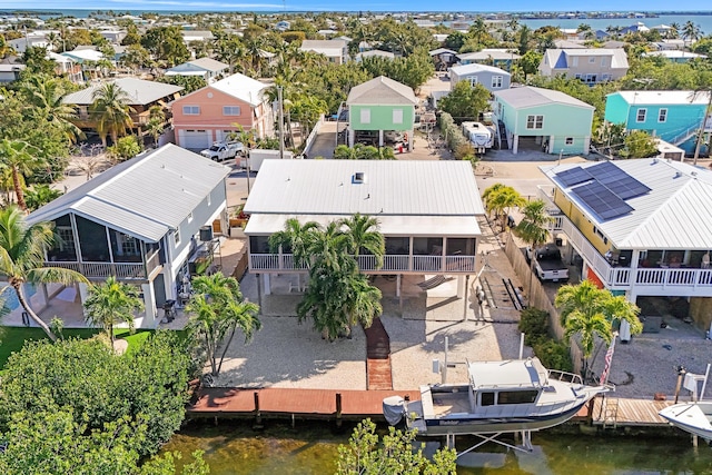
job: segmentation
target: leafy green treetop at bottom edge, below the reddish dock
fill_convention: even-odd
[[[429,459],[425,444],[415,443],[416,432],[394,427],[379,441],[370,419],[360,422],[348,442],[338,448],[337,475],[455,475],[457,454],[441,448]]]

